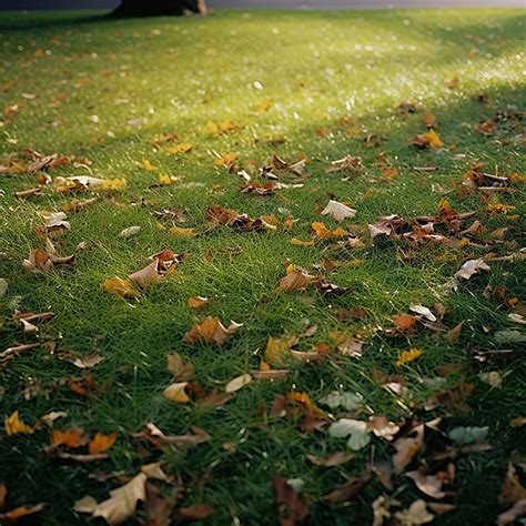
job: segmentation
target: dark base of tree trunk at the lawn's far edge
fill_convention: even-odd
[[[208,14],[206,0],[121,0],[112,12],[114,17],[159,17],[163,14],[182,16]]]

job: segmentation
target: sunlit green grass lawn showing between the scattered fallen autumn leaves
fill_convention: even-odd
[[[71,232],[61,237],[58,252],[75,253],[77,264],[71,272],[59,267],[42,275],[22,267],[30,249],[43,247],[33,230],[41,222],[38,212],[60,210],[71,198],[47,192],[17,200],[13,193],[34,186],[37,175],[0,175],[0,277],[9,282],[8,293],[0,299],[0,352],[38,341],[12,321],[16,307],[54,312],[54,318],[40,326],[39,337],[57,342],[54,353],[42,347],[16,357],[0,371],[4,388],[0,416],[18,409],[24,422],[34,424],[50,411],[67,411],[69,416],[57,422],[58,428],[80,425],[91,433],[119,433],[108,461],[84,465],[49,456],[43,451],[49,431],[10,437],[2,432],[0,482],[8,486],[10,506],[44,502],[50,507],[40,517],[42,524],[81,524],[87,516],[73,514],[74,500],[87,494],[105,499],[108,490],[119,485],[117,481],[97,482],[89,478],[90,473],[134,475],[142,464],[159,458],[166,473],[185,484],[178,506],[213,505],[216,513],[211,524],[277,523],[271,483],[274,473],[305,482],[311,507],[306,524],[370,524],[371,504],[386,493],[377,479],[351,503],[328,505],[321,498],[346,477],[361,474],[368,451],[363,449],[345,466],[314,466],[306,454],[327,454],[343,447],[342,441],[328,438],[326,431],[304,434],[291,419],[259,413],[262,407],[270,411],[276,394],[296,390],[317,401],[330,391],[343,390],[360,392],[374,414],[397,422],[414,412],[421,421],[443,416],[441,427],[446,432],[457,425],[488,425],[493,449],[455,459],[452,502],[457,507],[437,515],[436,524],[494,524],[503,509],[497,495],[507,462],[520,443],[524,446],[524,433],[508,423],[525,414],[525,381],[519,345],[506,345],[515,352],[484,363],[474,358],[474,351],[500,348],[493,341],[498,330],[520,330],[508,318],[509,308],[483,292],[490,285],[506,287],[507,297],[524,294],[524,262],[489,263],[490,272],[446,294],[441,285],[447,277],[463,261],[482,257],[487,250],[423,246],[413,259],[401,260],[397,247],[407,251],[407,245],[373,244],[365,235],[365,249],[333,254],[338,260],[363,260],[327,274],[333,283],[348,286],[347,294],[281,293],[276,284],[284,275],[285,260],[311,272],[322,263],[323,243],[301,247],[291,245],[290,239],[310,239],[311,223],[321,219],[316,202],[324,205],[328,193],[357,210],[356,218],[344,226],[361,225],[366,231],[366,224],[381,215],[435,214],[439,201],[447,198],[458,212],[476,211],[475,219],[487,232],[508,229],[509,243],[492,249],[497,255],[524,245],[520,183],[515,194],[500,196],[503,203],[516,208],[508,214],[488,215],[478,194],[455,191],[477,161],[487,163],[490,173],[495,166],[503,175],[524,173],[520,127],[502,123],[493,136],[472,128],[498,111],[524,109],[524,13],[514,10],[225,11],[209,19],[125,21],[84,14],[2,14],[0,78],[6,85],[0,91],[0,108],[16,103],[23,108],[0,128],[0,154],[26,148],[44,154],[72,153],[91,160],[94,176],[128,180],[124,191],[101,196],[91,210],[68,214]],[[42,53],[36,55],[37,50],[43,50],[43,57],[38,58]],[[459,79],[459,85],[449,89],[446,83],[453,78]],[[83,85],[82,79],[89,82]],[[492,99],[490,107],[474,100],[482,92]],[[22,93],[38,97],[27,100]],[[267,99],[274,107],[253,115],[253,108]],[[437,152],[409,146],[408,139],[425,133],[425,127],[417,114],[396,113],[394,108],[403,101],[421,102],[432,111],[442,140],[456,149]],[[100,122],[91,122],[90,115],[98,115]],[[138,118],[148,118],[148,123],[127,125]],[[341,118],[355,121],[357,136],[343,132],[336,124]],[[240,129],[221,136],[204,131],[209,121],[227,119]],[[316,134],[321,129],[330,130],[331,135]],[[173,132],[194,145],[191,153],[166,155],[150,142],[156,134]],[[363,139],[370,134],[385,141],[380,148],[366,148]],[[279,136],[287,141],[269,144]],[[265,198],[245,195],[240,192],[239,178],[214,166],[213,152],[229,151],[239,154],[241,164],[254,160],[257,165],[273,152],[286,160],[306,155],[311,176],[302,189],[280,190]],[[393,158],[399,170],[397,179],[381,178],[375,165],[378,152]],[[328,162],[345,154],[362,156],[364,170],[348,181],[342,174],[325,174]],[[143,159],[155,170],[146,172]],[[426,164],[437,170],[414,170]],[[201,186],[150,189],[161,172]],[[72,166],[50,172],[53,178],[85,173]],[[206,231],[206,209],[212,204],[251,218],[274,213],[281,222],[289,214],[280,213],[284,208],[297,221],[291,232],[282,226],[267,233]],[[195,227],[201,234],[182,240],[160,230],[152,212],[169,206],[185,208],[190,222],[182,226]],[[508,218],[514,214],[518,218]],[[331,220],[323,221],[335,226]],[[131,225],[141,226],[141,232],[129,240],[119,237]],[[75,251],[80,242],[88,242],[90,249]],[[141,269],[151,254],[164,247],[184,252],[186,257],[164,283],[145,290],[139,301],[125,301],[100,287],[109,277],[125,277]],[[235,253],[223,249],[235,249]],[[186,305],[192,295],[216,301],[204,313],[195,313]],[[413,302],[442,302],[447,307],[444,323],[448,328],[465,320],[458,342],[451,344],[425,330],[397,340],[375,331],[390,327],[390,317],[406,313]],[[358,306],[370,310],[371,317],[337,321],[337,310]],[[208,314],[225,323],[235,320],[243,327],[220,350],[183,343],[184,333]],[[170,352],[178,351],[194,363],[194,380],[203,388],[222,388],[231,378],[257,368],[257,351],[264,350],[269,336],[300,334],[312,324],[317,332],[302,340],[300,350],[331,342],[332,331],[352,334],[365,328],[363,357],[342,357],[333,351],[333,360],[323,366],[291,364],[289,380],[253,382],[218,409],[179,405],[162,397],[171,378],[165,368]],[[422,357],[396,367],[399,352],[409,346],[422,348]],[[108,384],[108,391],[85,399],[62,386],[24,399],[23,390],[30,383],[44,388],[54,378],[80,376],[79,370],[58,357],[62,350],[102,354],[105,360],[91,375],[98,385]],[[445,383],[432,382],[443,376],[439,366],[444,364],[462,364],[462,368],[446,376]],[[374,367],[407,378],[411,408],[404,409],[372,380]],[[479,372],[489,371],[506,375],[502,388],[478,380]],[[468,412],[446,406],[425,411],[429,395],[465,382],[474,383],[465,399]],[[336,411],[334,416],[342,414]],[[183,453],[153,452],[142,458],[131,434],[146,422],[170,434],[199,425],[212,441]],[[385,442],[373,442],[377,457],[388,458],[393,453]],[[235,447],[229,451],[224,444]],[[416,466],[415,461],[411,468]],[[415,498],[432,500],[403,475],[394,477],[394,486],[393,493],[405,506]]]

